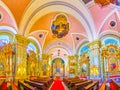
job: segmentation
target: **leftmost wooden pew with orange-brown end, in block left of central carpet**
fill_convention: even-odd
[[[30,86],[22,81],[18,81],[19,90],[38,90],[36,87]]]

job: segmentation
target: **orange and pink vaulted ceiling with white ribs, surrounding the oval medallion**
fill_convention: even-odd
[[[112,7],[113,5],[101,8],[93,0],[2,0],[0,2],[1,10],[4,7],[3,11],[6,11],[6,16],[8,15],[7,20],[10,19],[8,23],[4,23],[15,28],[21,35],[37,39],[43,52],[51,51],[49,53],[52,55],[56,48],[58,50],[61,48],[60,51],[64,52],[65,57],[68,54],[75,54],[81,42],[99,38],[110,16],[116,15],[112,18],[119,21],[119,18],[115,18],[119,17],[118,8]],[[70,28],[65,37],[54,38],[51,24],[59,14],[67,17]]]

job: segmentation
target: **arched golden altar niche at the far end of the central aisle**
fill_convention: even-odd
[[[65,75],[65,62],[62,58],[55,58],[52,60],[52,76],[64,77]]]

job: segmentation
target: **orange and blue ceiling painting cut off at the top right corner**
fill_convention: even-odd
[[[119,3],[119,0],[94,0],[94,2],[100,4],[101,6],[106,6],[110,3],[117,5]]]

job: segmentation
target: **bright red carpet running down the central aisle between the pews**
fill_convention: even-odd
[[[62,80],[54,80],[51,90],[65,90],[62,85]]]

